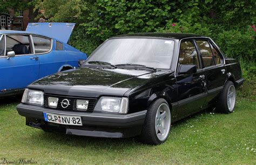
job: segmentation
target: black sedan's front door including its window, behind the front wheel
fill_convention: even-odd
[[[200,111],[207,95],[204,86],[205,71],[201,67],[200,58],[193,39],[181,41],[178,66],[180,64],[195,64],[197,65],[197,72],[185,75],[176,73],[178,90],[177,118],[183,118]]]

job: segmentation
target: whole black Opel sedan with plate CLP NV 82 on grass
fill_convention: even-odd
[[[244,81],[237,60],[196,34],[118,35],[80,66],[28,86],[17,106],[26,125],[161,144],[179,119],[209,106],[233,112]]]

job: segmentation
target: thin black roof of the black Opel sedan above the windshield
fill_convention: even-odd
[[[190,37],[205,37],[204,35],[188,34],[188,33],[133,33],[133,34],[122,34],[116,37],[160,37],[160,38],[172,38],[181,40]]]

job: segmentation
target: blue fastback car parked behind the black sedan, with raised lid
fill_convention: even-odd
[[[30,23],[26,31],[0,30],[0,98],[22,93],[39,78],[86,60],[85,53],[66,44],[74,26]]]

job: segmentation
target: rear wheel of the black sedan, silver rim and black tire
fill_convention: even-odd
[[[232,81],[227,81],[221,91],[216,108],[220,113],[232,113],[235,106],[235,86]]]

